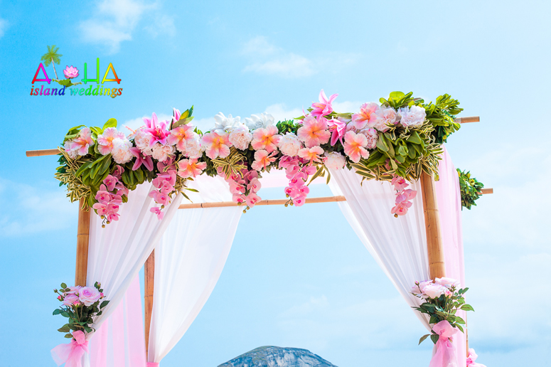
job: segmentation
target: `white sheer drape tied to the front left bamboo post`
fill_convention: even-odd
[[[95,319],[93,325],[95,329],[98,329],[102,322],[117,309],[132,280],[137,277],[141,266],[144,265],[154,245],[159,242],[181,203],[181,195],[173,198],[172,203],[164,208],[164,218],[159,220],[154,213],[149,211],[149,208],[154,206],[153,199],[148,196],[151,189],[153,186],[145,183],[131,191],[128,202],[120,206],[119,220],[106,225],[105,228],[102,228],[101,218],[92,213],[87,285],[92,286],[95,282],[101,282],[105,297],[110,301],[102,315]],[[141,309],[141,304],[137,306],[134,304],[133,307]],[[122,320],[117,319],[117,324],[121,322],[125,325],[124,327],[129,326],[129,320],[124,314]],[[87,339],[90,340],[91,346],[95,343],[93,333],[88,334]],[[102,338],[98,338],[96,342],[107,343]],[[101,349],[102,346],[97,346],[97,348]],[[139,346],[136,348],[135,350],[139,351]],[[85,355],[85,366],[89,363],[87,357]],[[125,363],[128,363],[130,358],[130,356],[125,357]],[[108,364],[113,361],[96,360],[95,363],[97,366],[113,366]],[[132,365],[132,367],[134,366]]]

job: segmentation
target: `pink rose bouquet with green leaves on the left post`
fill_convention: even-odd
[[[98,282],[95,282],[94,287],[67,287],[67,284],[61,283],[61,289],[53,289],[53,292],[58,294],[59,301],[63,303],[63,306],[53,310],[53,314],[68,318],[67,324],[58,329],[66,333],[65,338],[73,338],[71,331],[94,331],[90,326],[92,318],[102,314],[102,309],[109,304],[107,300],[102,301],[105,295]]]

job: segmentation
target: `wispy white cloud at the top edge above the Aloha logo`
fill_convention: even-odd
[[[146,11],[159,11],[157,3],[146,4],[137,0],[103,0],[97,4],[95,15],[80,22],[82,39],[98,43],[117,53],[123,41],[131,41],[132,33]],[[173,36],[176,32],[173,18],[164,14],[152,14],[155,26],[146,26],[152,36],[161,33]]]

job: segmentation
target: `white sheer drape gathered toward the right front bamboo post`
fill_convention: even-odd
[[[407,304],[421,302],[410,293],[414,282],[429,279],[427,235],[424,228],[420,184],[412,183],[417,196],[407,215],[394,218],[395,191],[387,181],[362,181],[362,176],[348,169],[331,170],[329,187],[334,195],[344,195],[338,205],[365,248],[375,258]],[[415,312],[430,329],[424,314]]]

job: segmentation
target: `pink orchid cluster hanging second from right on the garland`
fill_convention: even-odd
[[[316,172],[316,166],[308,164],[309,161],[299,156],[283,156],[279,161],[279,168],[285,169],[289,186],[285,188],[285,194],[291,198],[292,205],[303,206],[310,188],[306,186],[308,176]]]

